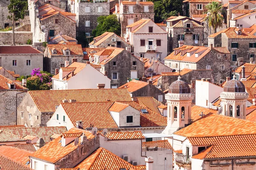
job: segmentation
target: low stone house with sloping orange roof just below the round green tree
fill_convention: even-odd
[[[109,46],[124,48],[131,52],[131,45],[113,32],[105,32],[102,35],[93,38],[93,41],[89,44],[90,48],[107,48]]]

